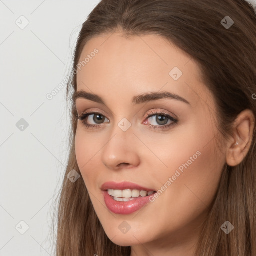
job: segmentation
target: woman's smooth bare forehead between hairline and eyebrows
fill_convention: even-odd
[[[77,91],[89,89],[104,98],[111,90],[120,99],[131,100],[135,94],[167,90],[192,105],[213,100],[191,56],[158,35],[93,37],[84,46],[79,63]]]

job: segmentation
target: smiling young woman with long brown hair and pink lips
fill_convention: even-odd
[[[57,256],[256,255],[256,15],[102,0],[67,88]]]

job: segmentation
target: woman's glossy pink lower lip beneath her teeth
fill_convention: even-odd
[[[139,210],[148,202],[150,202],[150,196],[152,196],[153,194],[144,197],[136,197],[135,199],[127,202],[120,202],[114,200],[107,191],[103,191],[103,195],[105,204],[110,211],[116,214],[130,214]]]

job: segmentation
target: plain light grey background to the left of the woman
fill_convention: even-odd
[[[70,125],[63,80],[98,2],[0,0],[0,256],[54,255],[52,215]]]

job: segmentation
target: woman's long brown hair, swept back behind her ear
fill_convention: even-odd
[[[226,16],[234,24],[221,24]],[[101,0],[83,23],[73,55],[67,100],[76,91],[77,64],[92,37],[122,31],[126,36],[155,34],[188,53],[198,64],[204,84],[217,105],[217,127],[223,138],[244,109],[256,116],[256,14],[245,0]],[[77,112],[72,103],[68,165],[57,212],[57,256],[128,256],[131,247],[114,244],[105,234],[79,174],[74,136]],[[256,142],[236,166],[225,164],[212,208],[203,225],[196,256],[256,255]],[[227,235],[220,226],[228,220]]]

